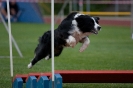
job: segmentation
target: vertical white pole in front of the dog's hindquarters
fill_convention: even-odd
[[[54,88],[54,0],[51,0],[52,88]]]

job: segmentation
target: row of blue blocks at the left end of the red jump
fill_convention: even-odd
[[[29,76],[26,81],[26,88],[52,88],[52,79],[47,76],[41,76],[38,81],[35,76]],[[16,78],[13,82],[13,88],[23,88],[22,78]],[[62,76],[55,74],[54,88],[62,88]]]

